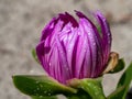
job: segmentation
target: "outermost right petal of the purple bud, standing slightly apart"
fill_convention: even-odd
[[[108,22],[106,20],[106,18],[102,15],[101,12],[97,11],[96,12],[96,16],[97,16],[97,21],[100,24],[101,28],[101,32],[102,32],[102,44],[103,44],[103,65],[108,62],[108,57],[110,54],[110,48],[111,48],[111,32],[110,32],[110,28],[108,25]],[[102,67],[103,69],[103,67]]]

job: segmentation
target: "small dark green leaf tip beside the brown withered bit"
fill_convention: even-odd
[[[124,65],[125,64],[124,64],[123,58],[119,59],[117,66],[112,70],[110,70],[109,74],[114,74],[114,73],[121,72],[124,68]]]

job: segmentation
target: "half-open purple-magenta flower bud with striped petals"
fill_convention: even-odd
[[[111,48],[111,33],[100,11],[94,24],[84,13],[59,13],[44,28],[36,55],[46,73],[62,84],[73,78],[96,78],[105,70]]]

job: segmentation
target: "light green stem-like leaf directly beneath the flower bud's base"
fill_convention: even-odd
[[[68,81],[68,85],[85,90],[91,99],[106,99],[102,91],[101,78],[72,79]]]

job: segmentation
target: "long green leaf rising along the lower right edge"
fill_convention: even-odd
[[[129,65],[129,67],[121,76],[116,91],[108,96],[108,99],[125,99],[131,81],[132,81],[132,63]]]

